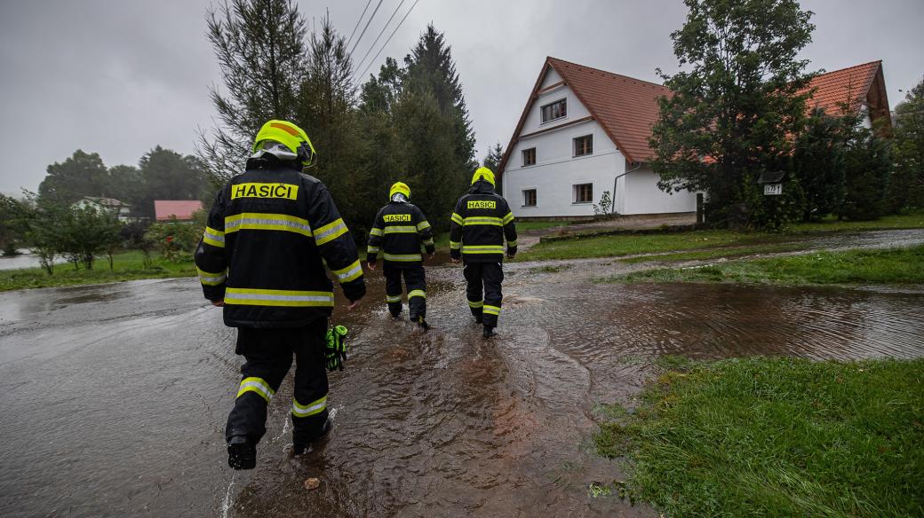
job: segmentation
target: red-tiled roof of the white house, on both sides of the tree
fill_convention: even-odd
[[[869,88],[872,87],[877,76],[881,77],[881,65],[881,61],[873,61],[813,78],[808,88],[817,88],[817,90],[812,99],[808,101],[809,106],[813,106],[814,102],[814,106],[827,111],[839,103],[852,100],[852,109],[857,110],[860,103],[867,100]],[[587,107],[590,116],[601,125],[603,131],[613,140],[626,159],[645,161],[654,155],[654,151],[648,145],[651,126],[658,120],[660,110],[658,98],[671,95],[669,89],[657,83],[620,76],[549,56],[542,65],[542,71],[536,79],[526,108],[520,115],[517,129],[514,130],[514,135],[507,145],[504,159],[501,160],[499,167],[500,171],[504,171],[506,167],[510,152],[517,144],[529,109],[539,97],[542,80],[550,67],[562,77],[565,85],[571,88],[577,99]],[[884,86],[881,89],[884,95]],[[885,100],[885,106],[887,113],[887,100]]]

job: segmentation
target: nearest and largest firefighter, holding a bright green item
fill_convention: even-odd
[[[225,325],[237,327],[235,352],[246,359],[225,428],[235,469],[256,465],[266,406],[293,356],[295,453],[330,430],[324,347],[334,291],[324,265],[350,309],[366,293],[356,245],[334,199],[302,172],[315,157],[308,135],[295,124],[269,121],[252,151],[246,171],[215,197],[195,254],[205,298],[224,307]]]

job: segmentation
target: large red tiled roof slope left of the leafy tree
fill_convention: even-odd
[[[671,90],[650,83],[577,65],[553,57],[549,65],[575,92],[606,135],[630,162],[654,155],[648,146],[651,126],[658,120],[658,98]]]

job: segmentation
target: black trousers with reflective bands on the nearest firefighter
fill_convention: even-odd
[[[327,319],[292,328],[237,329],[237,354],[247,362],[237,390],[234,409],[228,415],[225,440],[247,436],[257,443],[266,433],[269,405],[295,355],[295,389],[292,401],[292,440],[308,446],[320,435],[327,420],[327,370],[324,353]]]

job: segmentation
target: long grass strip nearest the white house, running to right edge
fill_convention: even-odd
[[[822,220],[818,223],[798,223],[781,233],[766,234],[735,230],[695,230],[670,234],[639,234],[615,236],[576,237],[574,240],[541,242],[517,255],[519,261],[579,259],[590,257],[620,257],[639,253],[665,253],[697,251],[699,257],[680,255],[675,260],[722,257],[723,248],[786,246],[799,249],[806,235],[821,232],[849,230],[924,229],[924,213],[889,216],[875,221]],[[802,245],[803,247],[805,245]],[[663,260],[657,257],[655,260]],[[672,260],[672,259],[668,259]]]

